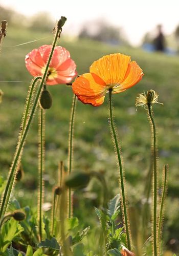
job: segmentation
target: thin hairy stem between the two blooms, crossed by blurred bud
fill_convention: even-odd
[[[73,131],[74,131],[74,119],[75,119],[75,107],[76,107],[76,95],[73,96],[73,103],[72,103],[72,112],[71,112],[71,119],[70,119],[70,130],[69,130],[69,166],[68,166],[68,173],[69,175],[72,172],[72,161],[73,161]],[[71,218],[73,215],[73,202],[72,202],[72,191],[69,188],[69,209],[68,209],[68,217]]]

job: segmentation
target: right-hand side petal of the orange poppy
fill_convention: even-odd
[[[131,61],[129,63],[126,77],[121,83],[120,90],[126,90],[132,86],[135,86],[135,84],[142,79],[143,75],[144,73],[142,72],[142,69],[139,67],[136,61]]]

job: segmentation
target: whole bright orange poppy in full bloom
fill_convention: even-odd
[[[112,89],[112,93],[124,92],[135,86],[144,75],[136,61],[131,61],[130,56],[121,53],[96,60],[89,72],[78,77],[72,89],[80,101],[94,106],[104,102],[109,89]]]

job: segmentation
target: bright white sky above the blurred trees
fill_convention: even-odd
[[[71,34],[78,33],[84,22],[103,18],[123,27],[133,45],[140,44],[144,34],[157,24],[163,24],[165,34],[172,33],[179,24],[178,0],[0,0],[0,5],[28,16],[41,11],[49,12],[56,20],[65,16],[68,22],[64,30]]]

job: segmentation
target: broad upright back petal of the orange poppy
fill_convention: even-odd
[[[98,75],[107,85],[120,84],[125,78],[129,62],[130,56],[110,54],[94,61],[89,71]]]

